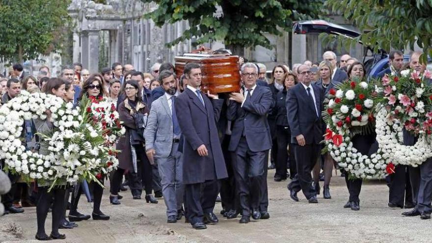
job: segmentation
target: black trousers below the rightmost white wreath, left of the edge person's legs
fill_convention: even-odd
[[[395,173],[390,175],[390,189],[388,202],[401,208],[404,205],[412,205],[411,183],[409,183],[408,168],[406,165],[395,166]]]

